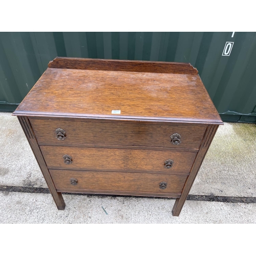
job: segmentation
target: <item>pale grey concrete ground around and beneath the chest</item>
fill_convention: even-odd
[[[0,113],[0,185],[43,187],[46,182],[16,117]],[[256,197],[256,125],[220,126],[190,195]],[[0,191],[0,223],[256,223],[255,203],[63,195],[58,211],[50,194]],[[103,208],[105,211],[103,210]]]

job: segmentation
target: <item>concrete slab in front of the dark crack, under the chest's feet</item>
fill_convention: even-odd
[[[57,210],[50,194],[0,192],[0,223],[256,223],[256,204],[63,195]],[[103,208],[105,211],[103,210]]]

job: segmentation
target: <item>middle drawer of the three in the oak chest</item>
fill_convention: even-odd
[[[68,146],[40,146],[40,148],[50,169],[142,171],[186,175],[197,154],[121,148]]]

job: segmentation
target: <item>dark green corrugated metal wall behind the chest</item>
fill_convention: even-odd
[[[223,120],[256,122],[255,32],[1,32],[0,110],[15,110],[56,56],[190,62]]]

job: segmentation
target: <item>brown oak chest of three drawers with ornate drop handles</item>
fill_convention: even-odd
[[[57,57],[13,115],[61,192],[173,197],[179,216],[220,124],[189,63]]]

